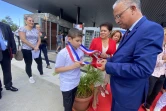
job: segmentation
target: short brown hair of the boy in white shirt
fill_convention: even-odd
[[[71,37],[72,39],[73,38],[76,38],[76,37],[82,37],[83,34],[82,34],[82,31],[76,29],[76,28],[71,28],[68,32],[68,37]]]

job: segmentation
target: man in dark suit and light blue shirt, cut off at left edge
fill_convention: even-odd
[[[18,91],[12,86],[11,59],[16,54],[16,43],[9,25],[0,22],[0,64],[4,76],[4,85],[6,90]],[[0,98],[2,84],[0,80]]]

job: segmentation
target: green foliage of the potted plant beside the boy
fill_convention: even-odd
[[[82,70],[84,70],[85,73],[81,75],[76,97],[87,98],[92,95],[94,84],[103,82],[102,71],[91,65],[85,65]]]

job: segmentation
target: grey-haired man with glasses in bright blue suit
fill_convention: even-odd
[[[117,0],[113,6],[116,23],[127,31],[114,56],[98,67],[111,75],[111,111],[138,111],[162,52],[163,28],[147,20],[140,7],[140,0]]]

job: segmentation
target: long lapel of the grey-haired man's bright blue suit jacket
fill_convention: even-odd
[[[131,32],[125,37],[123,38],[123,41],[120,42],[118,49],[116,50],[116,52],[118,52],[118,50],[131,38],[131,36],[137,31],[137,28],[146,20],[146,17],[142,17],[141,20],[134,26],[134,28],[131,30]],[[124,37],[124,36],[123,36]],[[115,53],[116,53],[115,52]],[[115,55],[115,54],[114,54]]]

